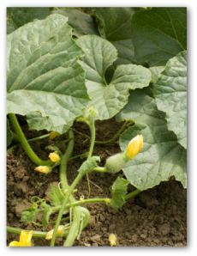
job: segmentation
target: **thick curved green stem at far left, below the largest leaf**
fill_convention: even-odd
[[[41,166],[47,166],[51,165],[50,160],[41,160],[38,155],[35,154],[33,149],[31,148],[30,144],[27,142],[27,138],[25,137],[23,131],[21,130],[21,126],[18,123],[18,120],[16,119],[16,116],[14,113],[9,113],[9,119],[15,129],[15,133],[17,137],[19,138],[21,142],[22,148],[26,151],[27,155],[29,158],[36,164],[36,165],[41,165]]]

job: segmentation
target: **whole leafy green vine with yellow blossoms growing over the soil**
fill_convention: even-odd
[[[186,20],[185,8],[9,8],[8,147],[21,143],[35,172],[50,175],[59,169],[50,203],[33,197],[21,216],[22,222],[37,222],[41,216],[40,225],[47,227],[55,214],[54,229],[28,233],[8,227],[9,233],[21,233],[10,246],[29,246],[32,237],[42,237],[53,247],[61,236],[63,246],[71,247],[89,222],[84,204],[120,210],[129,198],[171,177],[186,187]],[[26,117],[29,130],[49,132],[35,139],[65,135],[64,150],[53,147],[48,159],[41,159],[18,115]],[[112,117],[123,122],[111,139],[118,140],[120,153],[102,166],[99,155],[93,155],[95,121]],[[69,184],[74,121],[86,123],[91,137],[86,159]],[[90,172],[123,176],[109,185],[110,198],[76,200],[75,187],[83,176],[88,181]]]

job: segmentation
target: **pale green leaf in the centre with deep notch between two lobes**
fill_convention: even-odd
[[[95,35],[81,36],[77,43],[85,53],[80,64],[86,70],[90,105],[97,110],[97,119],[110,119],[118,113],[128,101],[128,89],[149,85],[150,70],[135,64],[119,65],[107,84],[105,71],[116,60],[116,48]]]

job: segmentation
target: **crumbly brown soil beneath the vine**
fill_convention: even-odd
[[[120,124],[113,119],[97,123],[97,139],[104,140],[114,134]],[[23,127],[26,128],[25,125]],[[75,124],[75,130],[88,134],[86,125]],[[27,137],[34,137],[38,133],[29,132]],[[48,142],[39,141],[32,143],[39,155],[46,157],[48,152],[45,146]],[[75,133],[74,155],[88,150],[88,138]],[[100,155],[102,161],[109,155],[113,155],[120,149],[114,145],[96,145],[94,155]],[[50,175],[38,174],[33,171],[35,166],[29,161],[21,147],[17,147],[12,153],[8,153],[8,183],[7,183],[7,223],[9,226],[21,229],[37,229],[33,224],[25,224],[20,221],[21,211],[29,205],[33,196],[46,197],[45,192],[51,182],[58,181],[58,170]],[[69,181],[75,178],[76,170],[81,165],[81,160],[69,162]],[[91,198],[110,196],[110,186],[116,180],[112,174],[91,174]],[[87,180],[81,180],[77,187],[76,198],[87,197]],[[132,186],[130,190],[134,189]],[[120,247],[184,247],[186,246],[186,190],[175,180],[162,182],[153,189],[141,192],[139,196],[128,200],[122,210],[115,211],[104,204],[88,204],[91,219],[86,229],[81,234],[75,246],[101,247],[109,246],[108,237],[116,234],[117,246]],[[48,227],[47,230],[52,229]],[[8,242],[18,239],[18,235],[8,235]],[[58,239],[57,245],[63,241]],[[35,246],[49,246],[49,242],[34,239]]]

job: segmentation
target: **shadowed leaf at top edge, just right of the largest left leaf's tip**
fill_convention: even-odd
[[[96,24],[93,21],[93,17],[79,9],[58,8],[57,10],[54,10],[53,13],[65,15],[69,18],[69,25],[73,27],[73,34],[76,37],[85,34],[99,34]]]

